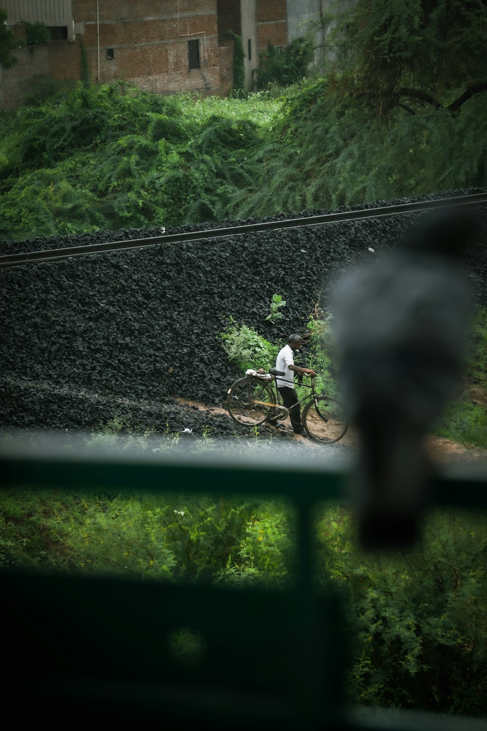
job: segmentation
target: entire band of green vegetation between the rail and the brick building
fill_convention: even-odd
[[[485,4],[341,7],[322,18],[321,75],[302,81],[312,29],[282,53],[269,45],[258,83],[272,94],[240,93],[238,37],[238,93],[229,99],[162,97],[121,82],[91,87],[82,47],[80,86],[1,120],[0,238],[487,186]]]

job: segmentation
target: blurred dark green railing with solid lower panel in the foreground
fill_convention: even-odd
[[[307,454],[307,451],[306,451]],[[1,572],[4,713],[38,721],[70,713],[78,721],[163,728],[469,731],[487,721],[346,708],[342,655],[346,628],[337,597],[315,588],[312,515],[323,500],[346,499],[345,467],[285,452],[254,458],[168,452],[0,449],[7,488],[73,491],[181,491],[283,496],[296,508],[294,586],[271,591],[175,586],[114,577]],[[486,473],[445,474],[434,503],[486,509]],[[193,662],[169,637],[189,627],[204,649]],[[20,713],[20,716],[19,716]],[[69,720],[66,718],[66,723]]]

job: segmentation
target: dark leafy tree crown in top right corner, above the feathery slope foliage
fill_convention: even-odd
[[[457,113],[487,90],[486,31],[483,0],[358,0],[326,43],[342,70],[342,92],[377,113],[400,106],[415,114],[428,105]]]

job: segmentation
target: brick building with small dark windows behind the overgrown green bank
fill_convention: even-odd
[[[18,64],[0,68],[0,104],[17,107],[42,75],[79,80],[83,48],[91,80],[124,79],[157,94],[226,95],[233,83],[233,41],[242,37],[245,77],[267,40],[288,42],[286,0],[0,0],[7,25],[26,37],[22,21],[42,21],[51,40],[20,48]]]

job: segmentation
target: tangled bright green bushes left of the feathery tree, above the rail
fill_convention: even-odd
[[[221,219],[277,106],[120,82],[23,107],[0,122],[0,238]]]

